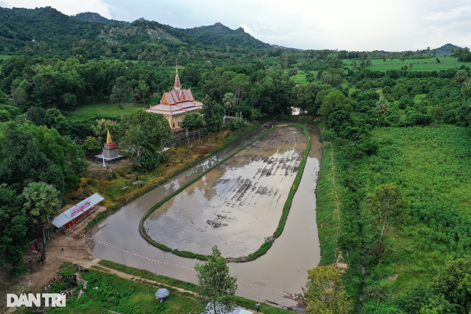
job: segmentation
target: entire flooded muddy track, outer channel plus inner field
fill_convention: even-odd
[[[139,233],[139,222],[154,204],[218,161],[237,152],[241,146],[258,137],[261,132],[270,129],[271,124],[272,122],[261,126],[209,159],[173,177],[164,185],[157,186],[107,217],[91,231],[90,238],[95,240],[91,242],[90,247],[93,255],[187,282],[196,282],[196,273],[193,268],[198,260],[180,257],[150,245]],[[236,295],[292,308],[298,312],[303,312],[304,306],[299,299],[293,298],[292,294],[303,293],[302,289],[307,281],[307,270],[317,266],[320,258],[315,191],[322,157],[322,143],[318,140],[317,130],[309,125],[308,128],[311,149],[283,233],[276,238],[273,246],[263,256],[251,262],[229,263],[231,274],[238,277],[239,287]],[[232,236],[243,239],[244,245],[252,245],[252,249],[246,251],[251,253],[254,251],[253,248],[258,249],[263,243],[263,238],[275,231],[286,195],[292,188],[295,171],[297,171],[296,166],[299,163],[299,152],[306,147],[306,138],[301,131],[297,128],[279,128],[273,130],[274,133],[261,137],[254,145],[247,146],[233,158],[228,159],[226,163],[216,166],[202,179],[188,186],[183,193],[179,193],[168,201],[165,204],[166,213],[181,210],[181,215],[184,216],[178,219],[178,223],[185,225],[192,233],[198,235],[195,238],[199,242],[195,241],[193,245],[200,245],[206,252],[214,244],[212,242],[214,238],[211,237],[220,236],[220,239],[226,238],[227,241],[232,241],[227,235],[221,236],[221,233],[237,230],[237,224],[241,225],[241,230],[248,231],[233,232]],[[247,184],[244,185],[244,183]],[[242,198],[240,198],[241,195]],[[188,197],[192,201],[186,201]],[[182,205],[176,206],[179,202]],[[205,207],[202,204],[205,204]],[[240,209],[239,204],[241,204]],[[191,210],[188,209],[190,206],[196,208],[199,215],[204,218],[198,217],[192,222],[188,216],[191,214]],[[171,210],[170,207],[172,207]],[[222,212],[222,210],[227,212]],[[157,212],[155,214],[154,221],[158,221],[160,218],[157,217]],[[162,214],[163,210],[160,212],[160,217],[163,216]],[[193,214],[193,216],[198,215]],[[172,219],[176,220],[176,218]],[[196,224],[199,226],[196,227]],[[171,241],[166,244],[175,243],[178,246],[179,243],[174,240],[174,237],[180,236],[177,233],[178,225],[164,225],[163,228],[169,233],[167,239]],[[198,231],[197,228],[203,231]],[[180,230],[187,232],[183,228]],[[253,237],[253,241],[244,233]],[[150,229],[149,234],[155,237]],[[208,239],[206,245],[201,244],[206,241],[205,239]],[[160,242],[160,239],[155,240]],[[249,243],[251,241],[253,243]],[[162,243],[165,242],[162,241]],[[193,242],[184,238],[184,245],[190,243]],[[217,244],[221,245],[221,243]],[[222,243],[222,245],[225,244]],[[235,245],[238,250],[245,250],[239,242]],[[224,252],[224,248],[221,248]]]

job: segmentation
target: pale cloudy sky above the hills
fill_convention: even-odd
[[[144,17],[180,28],[221,22],[302,49],[471,47],[470,0],[0,0],[0,6],[51,6],[67,15],[90,11],[123,21]]]

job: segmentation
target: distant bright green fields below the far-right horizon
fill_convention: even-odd
[[[461,65],[471,66],[470,62],[459,62],[456,59],[456,65],[454,64],[454,57],[447,56],[446,58],[443,56],[439,57],[440,63],[437,63],[435,58],[430,59],[416,59],[416,60],[405,60],[404,64],[402,63],[401,59],[393,59],[392,63],[390,59],[386,59],[386,62],[383,62],[382,59],[374,59],[371,60],[372,64],[367,67],[368,70],[371,71],[388,71],[388,70],[400,70],[401,66],[409,64],[414,64],[412,69],[417,71],[440,71],[440,70],[447,70],[452,68],[459,68]],[[344,59],[343,64],[350,65],[351,60]]]

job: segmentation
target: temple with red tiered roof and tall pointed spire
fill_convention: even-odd
[[[151,106],[149,109],[146,109],[146,111],[150,113],[162,113],[169,120],[170,127],[176,129],[179,127],[179,122],[185,113],[199,110],[202,106],[203,103],[196,101],[195,97],[193,97],[191,89],[181,88],[177,66],[173,89],[163,93],[160,104]]]

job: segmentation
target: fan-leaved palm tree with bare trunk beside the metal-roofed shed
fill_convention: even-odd
[[[25,186],[21,195],[26,202],[23,204],[23,213],[29,211],[29,214],[42,224],[42,254],[41,262],[46,259],[46,233],[44,228],[56,217],[62,206],[59,199],[59,191],[54,185],[45,182],[31,182]]]

